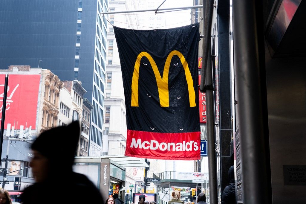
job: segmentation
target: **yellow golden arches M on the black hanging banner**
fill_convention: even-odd
[[[156,82],[157,82],[157,88],[158,88],[158,94],[159,94],[159,101],[160,101],[160,106],[161,107],[169,107],[169,90],[168,90],[168,74],[169,74],[169,68],[170,68],[170,62],[171,59],[174,55],[177,55],[181,63],[183,65],[184,71],[185,71],[185,77],[187,81],[187,86],[188,86],[188,93],[189,93],[189,104],[190,107],[195,107],[196,106],[196,93],[193,88],[193,80],[192,76],[188,67],[188,63],[185,60],[184,55],[182,55],[181,52],[174,50],[171,51],[170,54],[168,55],[165,66],[164,66],[164,71],[163,75],[159,74],[159,70],[157,68],[157,65],[154,61],[154,59],[151,57],[151,55],[147,52],[141,52],[136,59],[135,66],[134,66],[134,72],[133,72],[133,77],[132,77],[132,100],[131,100],[131,106],[136,106],[138,107],[138,80],[139,80],[139,68],[140,68],[140,60],[143,57],[146,57],[153,69]]]

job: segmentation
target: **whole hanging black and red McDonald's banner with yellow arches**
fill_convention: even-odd
[[[198,160],[199,24],[160,30],[114,27],[127,121],[125,155]]]

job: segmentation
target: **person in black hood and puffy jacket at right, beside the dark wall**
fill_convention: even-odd
[[[225,187],[222,193],[221,204],[235,204],[236,203],[234,166],[231,166],[229,169],[229,180],[230,180],[230,184]]]

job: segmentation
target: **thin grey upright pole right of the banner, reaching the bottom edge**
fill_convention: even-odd
[[[207,69],[206,83],[208,86],[212,86],[212,60],[211,60],[211,43],[207,44],[208,56],[207,56]],[[214,106],[214,90],[206,90],[206,126],[207,126],[207,155],[208,155],[208,172],[209,172],[209,196],[210,203],[218,203],[218,185],[217,185],[217,161],[215,151],[215,106]]]

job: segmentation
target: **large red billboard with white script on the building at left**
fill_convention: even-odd
[[[0,121],[2,118],[4,81],[5,74],[0,74]],[[32,126],[32,129],[35,129],[39,81],[39,74],[9,74],[5,129],[8,123],[15,126],[15,130],[18,130],[21,125],[24,128]]]

